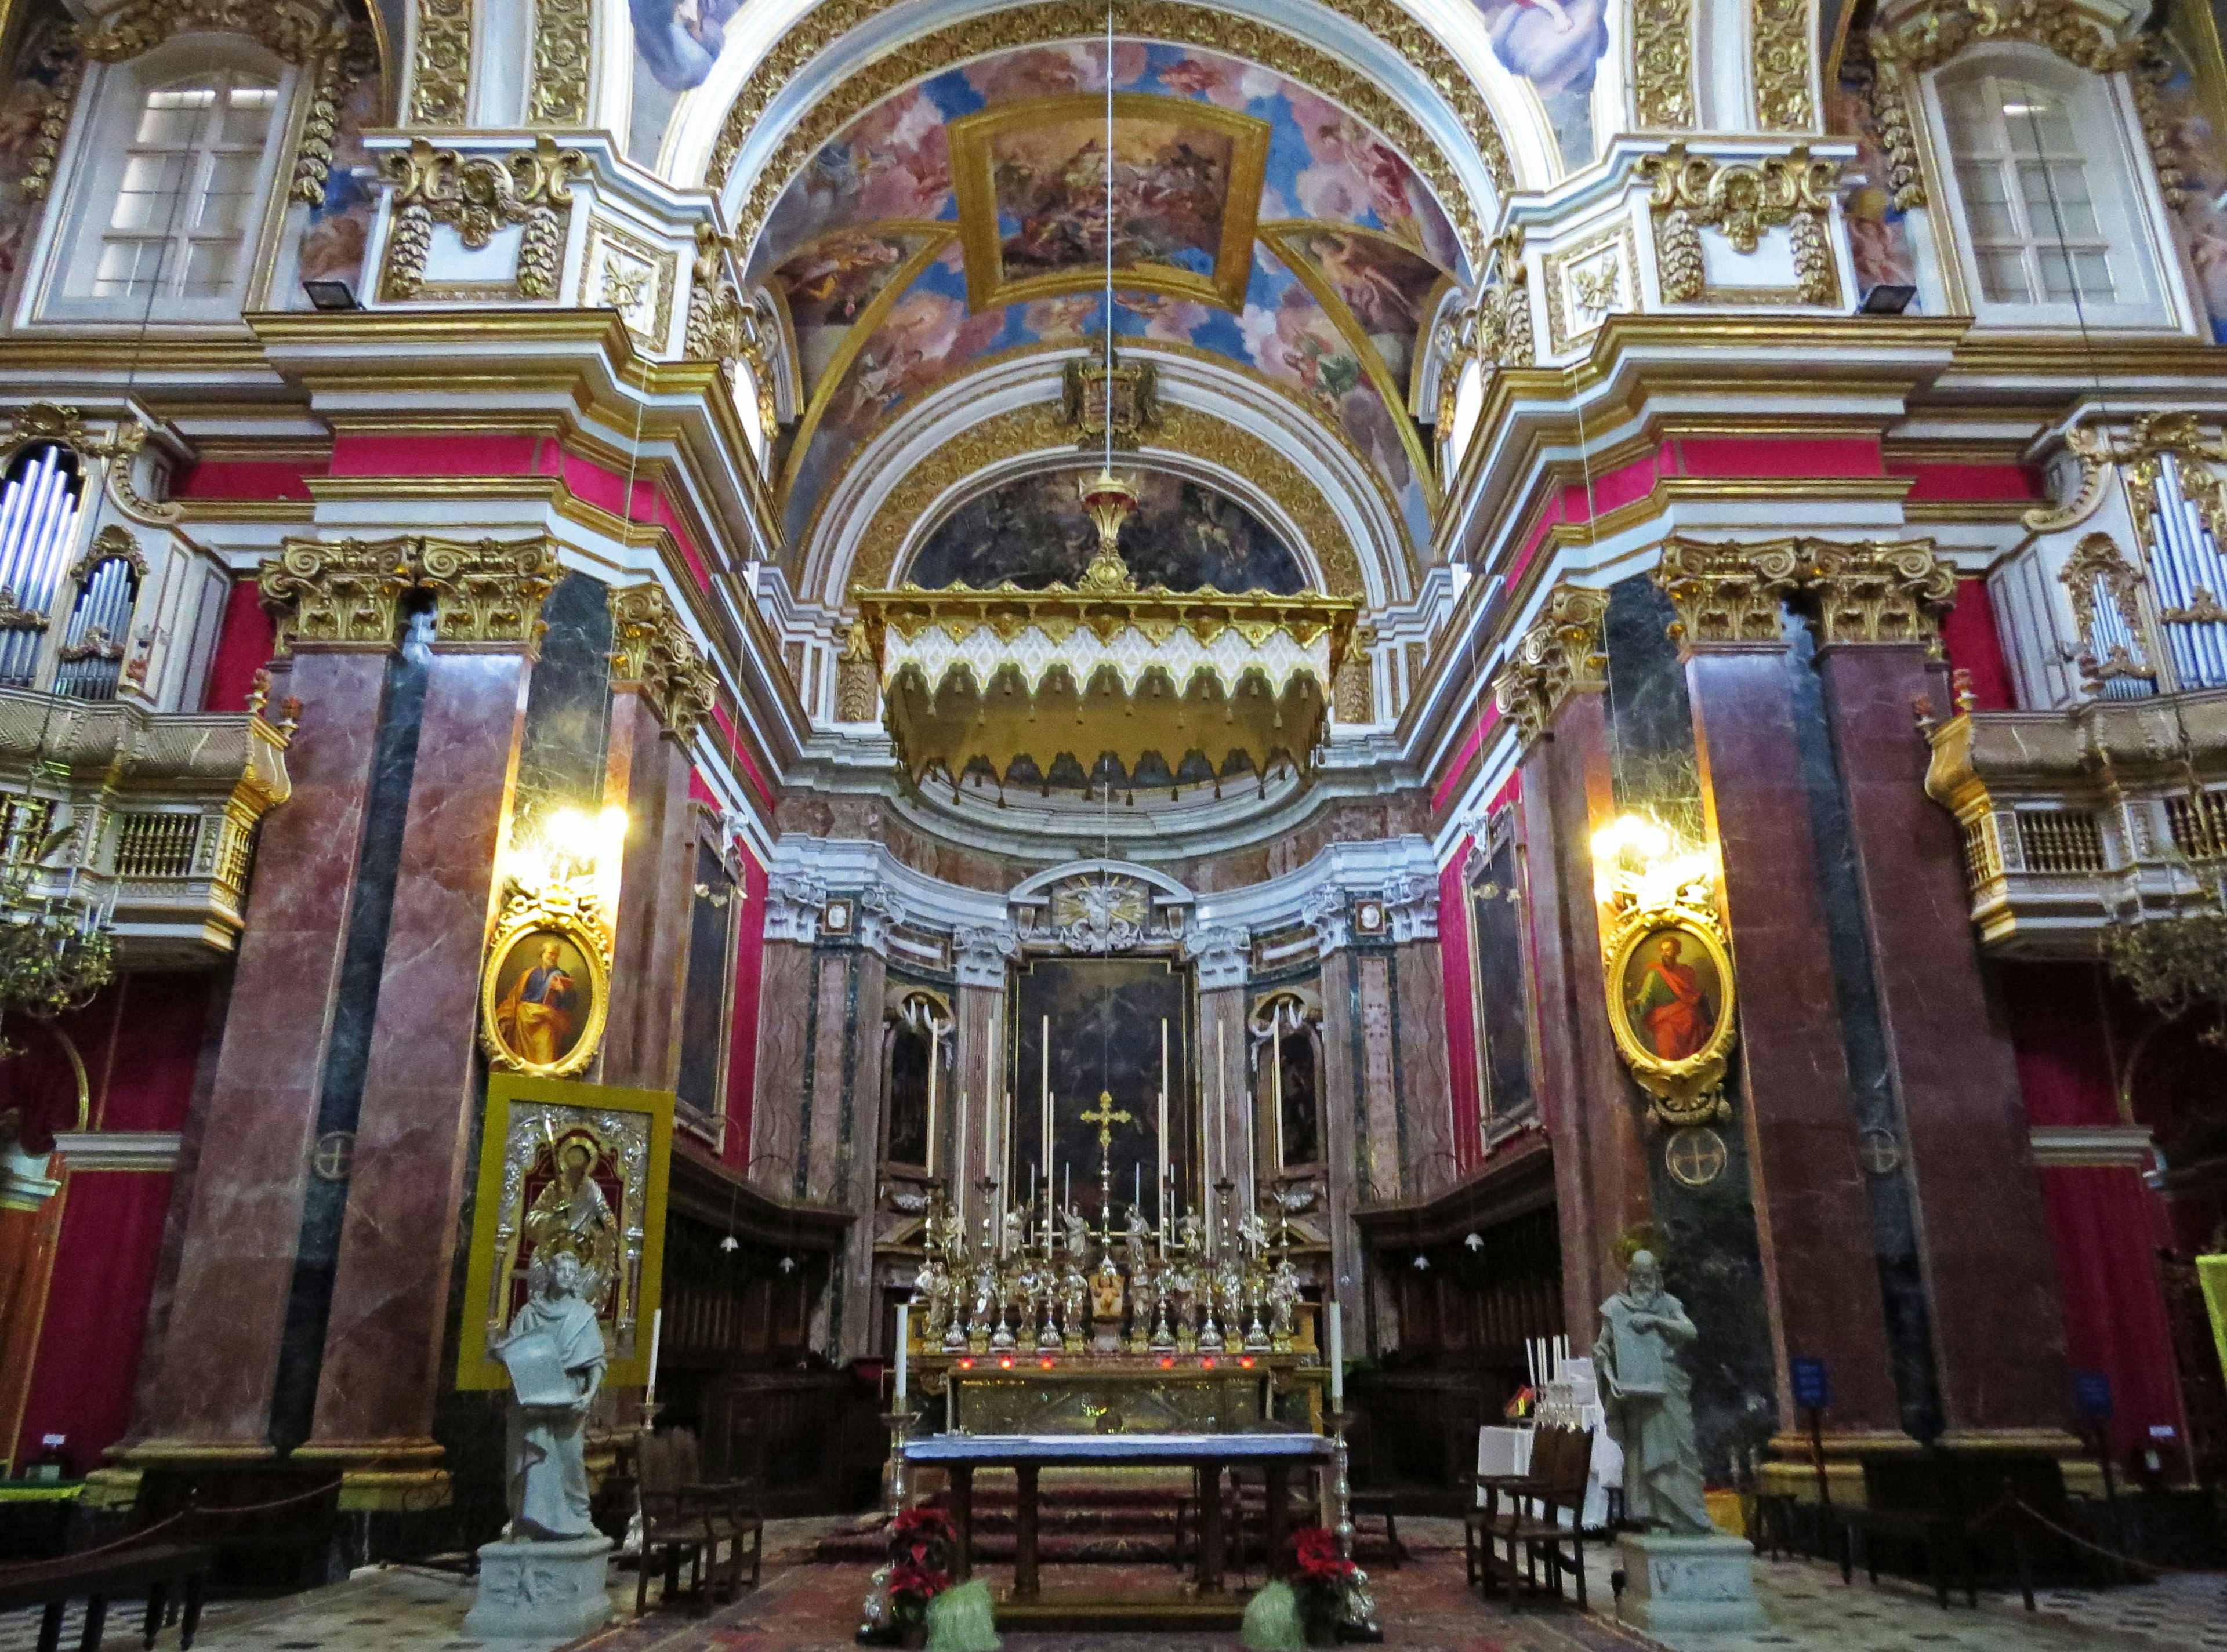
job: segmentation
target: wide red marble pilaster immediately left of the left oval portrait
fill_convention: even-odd
[[[428,661],[316,1418],[296,1452],[374,1478],[430,1474],[441,1456],[432,1407],[461,1242],[479,966],[526,668],[517,643],[434,643]]]

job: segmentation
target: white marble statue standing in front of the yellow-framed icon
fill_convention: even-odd
[[[608,1356],[581,1289],[583,1269],[570,1251],[537,1262],[532,1296],[490,1349],[510,1365],[512,1380],[506,1427],[512,1541],[595,1536],[581,1432]],[[546,1338],[548,1347],[530,1338]]]

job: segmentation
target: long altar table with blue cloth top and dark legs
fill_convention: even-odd
[[[973,1472],[1013,1469],[1013,1596],[1033,1599],[1036,1478],[1053,1467],[1187,1467],[1198,1478],[1198,1587],[1223,1587],[1223,1469],[1258,1465],[1267,1476],[1267,1567],[1283,1570],[1283,1521],[1292,1467],[1330,1461],[1321,1434],[931,1434],[904,1443],[906,1463],[933,1463],[951,1474],[951,1523],[958,1543],[951,1576],[973,1572]]]

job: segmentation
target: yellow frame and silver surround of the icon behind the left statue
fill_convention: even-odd
[[[664,1300],[673,1091],[490,1073],[457,1347],[459,1389],[510,1387],[510,1371],[490,1358],[488,1345],[510,1322],[512,1280],[532,1242],[528,1184],[543,1156],[555,1160],[561,1144],[581,1135],[592,1135],[617,1160],[624,1184],[619,1207],[610,1211],[617,1227],[617,1278],[608,1282],[608,1300],[597,1311],[610,1358],[604,1385],[648,1383],[650,1325]]]

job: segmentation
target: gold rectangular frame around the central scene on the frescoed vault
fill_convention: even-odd
[[[1062,292],[1098,292],[1105,285],[1102,254],[1078,258],[1071,267],[1038,274],[1011,274],[1007,269],[1007,243],[1000,234],[998,176],[1000,167],[1009,163],[1004,149],[1033,131],[1073,129],[1080,134],[1087,125],[1093,125],[1096,140],[1102,142],[1105,111],[1107,100],[1102,91],[1069,91],[1049,98],[1000,102],[978,114],[960,116],[946,127],[951,138],[951,187],[960,209],[960,247],[967,256],[967,305],[971,309],[995,309]],[[1227,174],[1211,274],[1167,263],[1129,263],[1114,267],[1116,285],[1158,292],[1171,298],[1196,298],[1218,309],[1243,309],[1245,287],[1252,281],[1260,185],[1267,176],[1269,122],[1211,102],[1165,98],[1151,91],[1116,91],[1114,120],[1116,127],[1120,122],[1129,122],[1131,127],[1149,122],[1169,131],[1194,131],[1227,142]]]

